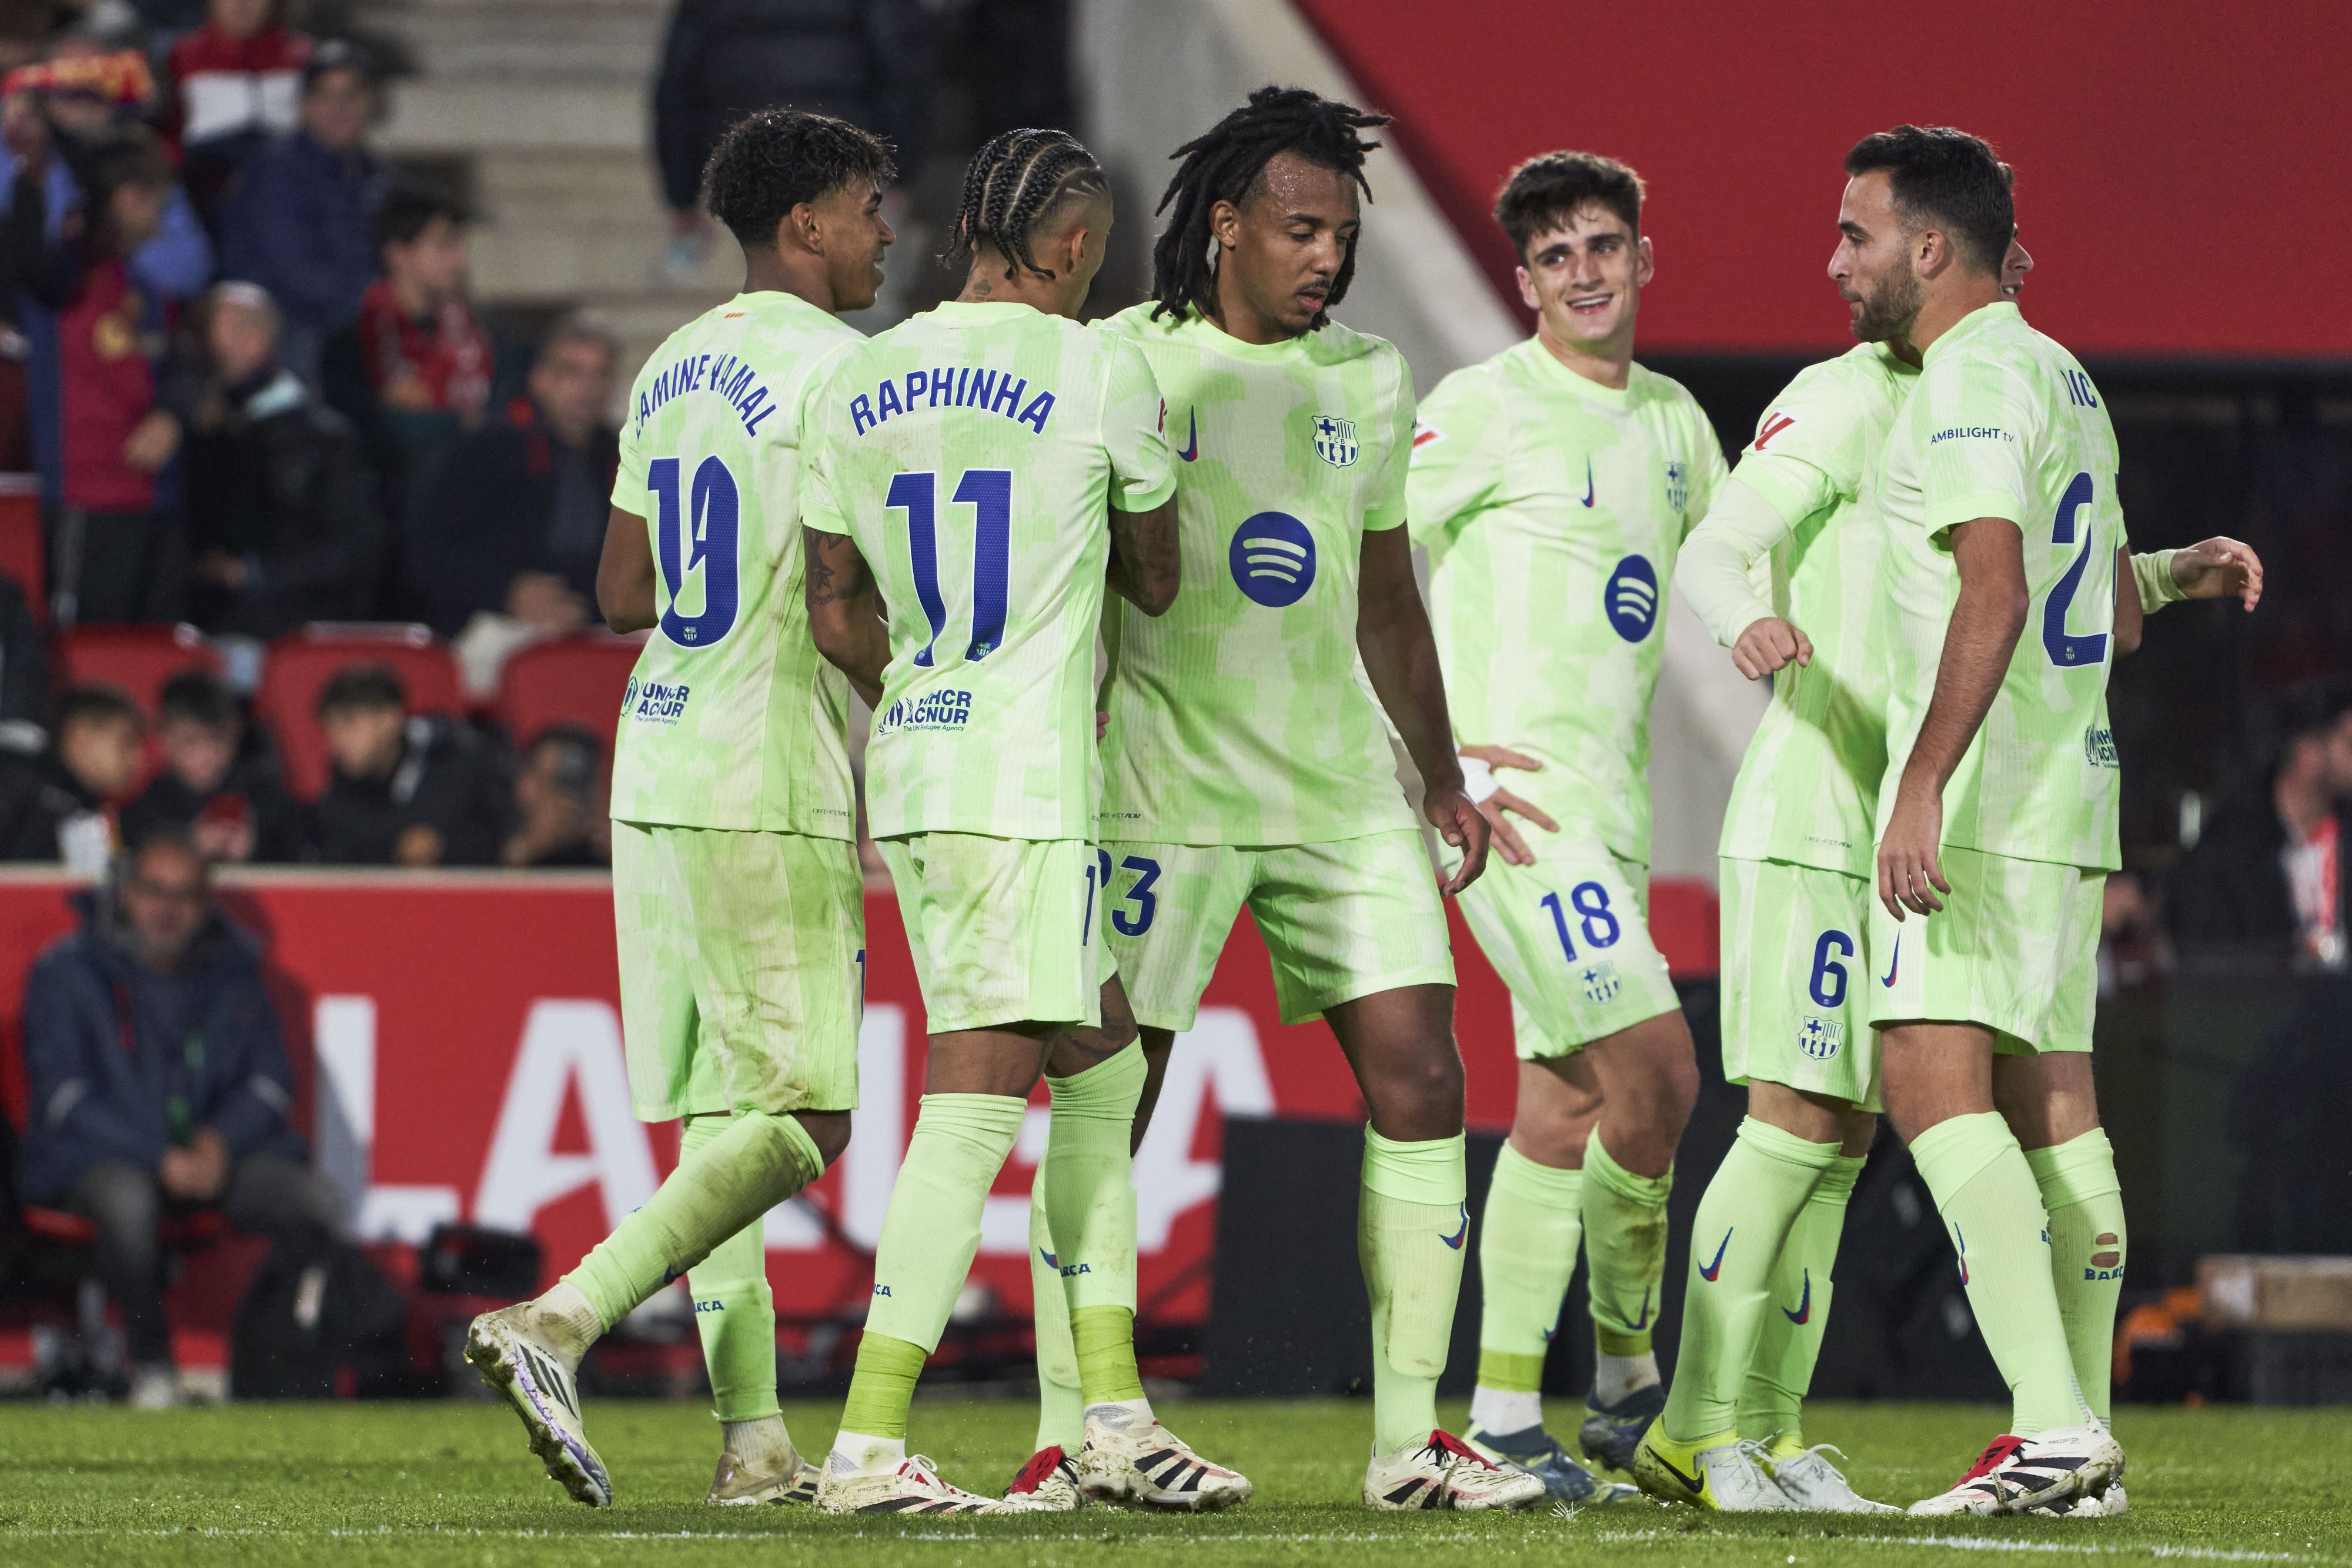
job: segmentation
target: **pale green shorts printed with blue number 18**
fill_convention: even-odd
[[[1649,867],[1573,825],[1536,835],[1534,865],[1486,858],[1463,917],[1503,985],[1519,1060],[1566,1056],[1682,1006],[1649,940]]]

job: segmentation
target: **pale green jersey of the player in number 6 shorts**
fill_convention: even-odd
[[[1738,860],[1870,875],[1886,773],[1879,454],[1917,378],[1884,343],[1797,371],[1731,473],[1788,524],[1766,599],[1813,644],[1813,663],[1773,675],[1731,783],[1722,853]]]

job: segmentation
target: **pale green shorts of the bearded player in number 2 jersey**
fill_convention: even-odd
[[[1870,1023],[1978,1023],[2002,1056],[2089,1051],[2107,872],[1943,846],[1943,914],[1870,896]]]

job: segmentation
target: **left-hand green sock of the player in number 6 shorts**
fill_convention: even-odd
[[[1682,1354],[1665,1392],[1665,1436],[1696,1443],[1738,1425],[1740,1382],[1771,1309],[1773,1265],[1835,1143],[1806,1143],[1748,1117],[1691,1222]]]

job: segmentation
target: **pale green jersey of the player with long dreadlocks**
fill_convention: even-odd
[[[1242,343],[1152,306],[1108,327],[1169,400],[1183,592],[1157,621],[1112,604],[1103,625],[1103,837],[1282,846],[1414,827],[1355,672],[1364,531],[1404,522],[1404,355],[1341,324]]]

